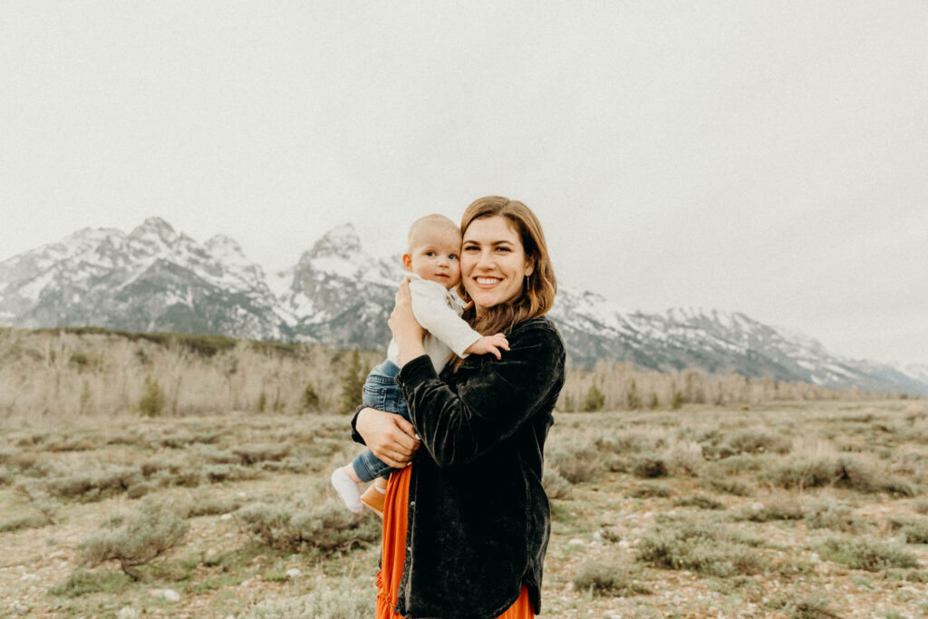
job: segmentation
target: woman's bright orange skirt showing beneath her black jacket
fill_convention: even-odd
[[[383,549],[380,554],[380,573],[377,574],[376,619],[403,619],[393,612],[398,598],[403,561],[406,559],[406,509],[409,506],[409,477],[412,467],[393,473],[387,484],[386,504],[383,509]],[[528,589],[522,586],[519,599],[496,619],[533,619]]]

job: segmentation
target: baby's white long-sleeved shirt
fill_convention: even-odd
[[[470,329],[470,325],[461,318],[464,302],[458,292],[445,290],[438,282],[423,279],[415,273],[406,277],[409,279],[413,316],[422,329],[428,331],[422,345],[437,374],[445,368],[452,352],[461,358],[468,356],[464,351],[483,335]],[[400,365],[400,349],[394,340],[387,347],[387,358],[396,366]]]

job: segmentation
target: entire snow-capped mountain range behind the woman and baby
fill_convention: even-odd
[[[86,228],[0,263],[0,324],[24,328],[226,333],[239,338],[384,348],[402,277],[398,256],[368,254],[349,225],[297,264],[265,274],[233,239],[200,243],[158,217],[128,235]],[[561,285],[549,316],[574,363],[734,370],[822,386],[928,394],[928,366],[831,355],[804,335],[739,313],[697,308],[630,312]]]

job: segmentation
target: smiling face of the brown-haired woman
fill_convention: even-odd
[[[522,280],[532,275],[519,233],[499,215],[470,222],[461,244],[461,280],[479,315],[483,309],[522,294]]]

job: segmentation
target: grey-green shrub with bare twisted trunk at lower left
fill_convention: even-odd
[[[147,501],[133,516],[114,516],[78,547],[81,560],[91,566],[119,561],[125,574],[137,579],[136,569],[179,545],[190,524],[163,503]]]

